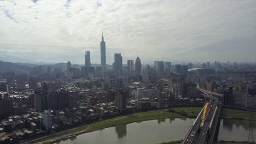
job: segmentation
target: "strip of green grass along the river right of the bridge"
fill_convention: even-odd
[[[256,112],[223,108],[220,117],[256,120]]]

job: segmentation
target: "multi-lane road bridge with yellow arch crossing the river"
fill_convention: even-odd
[[[185,135],[182,144],[211,144],[214,140],[219,114],[222,107],[222,105],[219,104],[219,99],[222,99],[223,95],[201,88],[197,88],[197,91],[208,99],[208,102],[203,106],[199,115],[196,117],[195,122],[189,129],[187,135]]]

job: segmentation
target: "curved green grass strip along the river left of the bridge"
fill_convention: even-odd
[[[100,130],[103,128],[113,127],[119,124],[127,124],[139,121],[148,121],[152,119],[161,119],[161,118],[180,118],[180,117],[196,117],[198,113],[201,111],[201,107],[185,107],[185,108],[176,108],[173,109],[177,112],[185,111],[187,116],[179,115],[178,113],[168,112],[166,110],[159,111],[149,111],[136,113],[129,116],[119,117],[116,119],[109,119],[107,121],[98,122],[92,125],[90,131]]]

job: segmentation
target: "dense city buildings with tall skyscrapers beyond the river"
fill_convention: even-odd
[[[86,51],[81,65],[68,61],[0,69],[0,139],[22,141],[135,112],[203,106],[207,98],[200,89],[222,95],[225,107],[256,111],[253,63],[172,65],[137,57],[126,67],[121,53],[114,53],[111,68],[103,35],[100,51],[101,64],[91,64]]]

